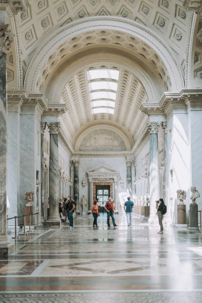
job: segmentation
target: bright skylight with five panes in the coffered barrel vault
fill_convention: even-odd
[[[94,69],[87,71],[87,77],[92,115],[100,113],[113,115],[116,105],[119,71]],[[91,82],[93,79],[96,80]]]

